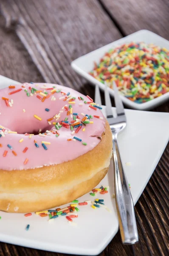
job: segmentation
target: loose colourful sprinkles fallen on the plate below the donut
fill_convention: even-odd
[[[105,190],[104,190],[105,189]],[[108,192],[107,189],[109,189],[109,186],[101,186],[100,188],[95,188],[92,191],[96,195],[97,192]],[[103,195],[105,193],[102,193]],[[91,195],[91,193],[90,193]],[[78,218],[78,213],[80,211],[79,207],[84,207],[90,205],[92,209],[98,209],[100,207],[107,209],[108,212],[111,212],[111,210],[104,204],[104,199],[96,198],[94,201],[87,200],[84,202],[79,202],[79,200],[72,201],[68,206],[64,208],[56,208],[56,209],[49,209],[44,211],[35,212],[36,215],[39,215],[39,217],[48,217],[48,222],[54,221],[54,219],[58,218],[59,216],[65,216],[65,219],[68,221],[69,224],[77,225],[75,221],[73,221],[74,218]],[[25,217],[29,217],[32,215],[31,212],[24,214]],[[26,226],[26,230],[29,229],[29,224]]]

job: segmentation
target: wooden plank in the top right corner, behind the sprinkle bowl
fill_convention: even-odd
[[[99,0],[120,26],[124,35],[148,29],[169,40],[169,2],[167,0]]]

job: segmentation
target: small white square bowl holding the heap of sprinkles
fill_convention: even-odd
[[[160,47],[165,47],[166,49],[169,49],[169,41],[162,38],[159,35],[156,35],[153,32],[150,32],[148,30],[140,30],[138,32],[135,32],[131,35],[128,35],[124,38],[121,38],[113,43],[107,44],[99,49],[96,49],[93,52],[89,52],[86,55],[83,55],[80,58],[77,58],[76,60],[72,61],[71,67],[73,70],[75,70],[79,75],[85,77],[88,81],[90,81],[92,84],[99,84],[99,87],[104,90],[104,84],[99,82],[97,79],[93,78],[89,75],[89,72],[93,70],[93,63],[96,61],[96,63],[99,63],[100,59],[103,57],[103,55],[111,48],[116,47],[120,44],[126,44],[130,43],[131,41],[136,42],[145,42],[146,44],[155,44]],[[114,91],[110,88],[108,88],[110,91],[110,94],[114,96]],[[130,99],[127,99],[126,97],[121,95],[121,99],[128,107],[138,110],[149,110],[151,108],[155,108],[158,105],[163,104],[169,99],[169,92],[163,94],[162,96],[159,96],[156,99],[152,99],[149,102],[145,103],[135,103],[132,102]]]

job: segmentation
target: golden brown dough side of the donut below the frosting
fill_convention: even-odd
[[[0,170],[0,210],[35,212],[69,203],[99,184],[111,157],[112,134],[106,121],[100,143],[74,160],[38,169]]]

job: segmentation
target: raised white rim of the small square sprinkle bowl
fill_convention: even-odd
[[[107,44],[103,47],[100,47],[99,49],[96,49],[92,52],[89,52],[79,58],[77,58],[76,60],[72,61],[71,62],[71,67],[81,76],[85,77],[85,79],[87,79],[88,81],[90,81],[92,84],[99,84],[99,87],[104,90],[104,84],[102,84],[101,82],[99,82],[97,79],[93,78],[92,76],[90,76],[86,71],[84,71],[82,68],[80,68],[78,66],[78,62],[79,61],[85,61],[85,58],[88,57],[88,56],[92,56],[92,55],[95,55],[96,53],[99,53],[100,51],[103,51],[104,52],[107,52],[108,49],[110,49],[111,47],[115,47],[117,46],[118,44],[122,44],[124,43],[124,41],[129,41],[131,37],[135,36],[135,38],[137,38],[137,35],[154,35],[156,37],[158,37],[158,39],[161,39],[161,41],[165,42],[168,44],[168,47],[169,47],[169,41],[166,40],[165,38],[162,38],[161,36],[149,31],[149,30],[146,30],[146,29],[143,29],[143,30],[140,30],[138,32],[135,32],[135,33],[132,33],[131,35],[128,35],[124,38],[121,38],[121,39],[118,39],[117,41],[114,41],[110,44]],[[134,39],[132,39],[133,41]],[[152,42],[155,44],[155,42]],[[95,61],[93,59],[93,61]],[[93,62],[92,61],[92,62]],[[90,71],[90,70],[89,70]],[[110,93],[114,96],[114,91],[110,88],[108,88]],[[149,110],[157,105],[160,105],[164,102],[166,102],[168,99],[169,99],[169,92],[168,93],[165,93],[163,95],[161,95],[160,97],[158,98],[155,98],[155,99],[152,99],[151,101],[149,102],[145,102],[145,103],[141,103],[141,104],[138,104],[138,103],[135,103],[135,102],[132,102],[130,101],[129,99],[127,99],[125,96],[122,96],[121,95],[121,99],[122,101],[129,107],[133,108],[133,109],[137,109],[137,110]]]

